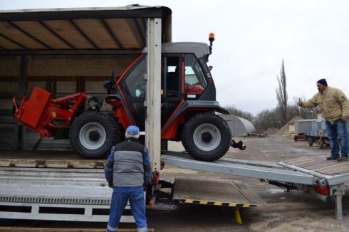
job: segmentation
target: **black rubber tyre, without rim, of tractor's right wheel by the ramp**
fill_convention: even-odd
[[[227,139],[226,144],[224,146],[224,149],[222,150],[222,152],[219,152],[219,154],[217,154],[215,157],[201,157],[199,154],[197,154],[196,152],[192,151],[192,149],[190,149],[189,147],[189,142],[186,139],[186,135],[188,132],[188,127],[189,125],[191,125],[192,123],[196,122],[197,120],[199,120],[199,118],[201,117],[214,117],[215,120],[217,120],[218,122],[222,123],[222,125],[224,126],[224,130],[226,130],[226,132],[228,132],[228,137],[229,139]],[[186,151],[194,158],[197,160],[202,160],[202,161],[207,161],[207,162],[212,162],[214,160],[217,160],[221,157],[224,156],[224,154],[226,154],[226,152],[228,152],[229,147],[230,147],[230,142],[231,142],[231,131],[230,131],[230,127],[229,125],[226,123],[226,121],[222,118],[219,117],[218,115],[215,115],[212,112],[204,112],[204,113],[199,113],[197,115],[194,115],[193,117],[191,117],[184,125],[183,130],[182,130],[182,144],[183,147],[186,149]],[[220,146],[220,145],[219,145]]]

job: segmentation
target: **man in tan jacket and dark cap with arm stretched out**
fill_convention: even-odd
[[[348,131],[346,122],[349,116],[349,101],[342,90],[327,85],[325,79],[316,83],[318,93],[308,101],[298,100],[297,104],[305,108],[320,107],[325,119],[331,155],[327,160],[348,160]],[[339,140],[339,141],[338,141]],[[341,156],[339,156],[339,153]]]

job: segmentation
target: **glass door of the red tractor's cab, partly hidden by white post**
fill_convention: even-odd
[[[161,127],[175,112],[183,97],[182,63],[182,54],[162,55]],[[120,89],[126,101],[125,105],[130,120],[135,122],[140,130],[145,130],[146,74],[147,56],[142,56],[120,81]]]

